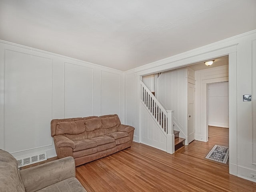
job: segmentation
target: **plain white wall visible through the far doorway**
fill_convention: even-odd
[[[208,84],[208,125],[228,128],[228,82]]]

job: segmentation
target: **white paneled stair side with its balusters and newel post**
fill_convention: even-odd
[[[141,142],[174,153],[173,114],[166,110],[141,81],[140,128]]]

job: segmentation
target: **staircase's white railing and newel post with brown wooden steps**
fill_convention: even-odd
[[[150,92],[148,87],[141,81],[141,103],[144,108],[150,113],[150,118],[157,124],[158,129],[164,134],[166,138],[166,152],[173,154],[175,150],[178,150],[184,146],[183,138],[179,138],[179,132],[173,130],[173,112],[172,110],[166,110],[160,102],[154,96],[154,93]],[[176,135],[174,135],[176,134]]]

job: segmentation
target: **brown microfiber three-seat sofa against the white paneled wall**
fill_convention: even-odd
[[[72,156],[79,166],[130,147],[134,127],[121,124],[116,114],[54,119],[51,134],[58,158]]]

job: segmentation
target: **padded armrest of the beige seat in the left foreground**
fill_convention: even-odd
[[[73,157],[66,157],[20,170],[26,192],[35,192],[62,180],[76,176]]]

